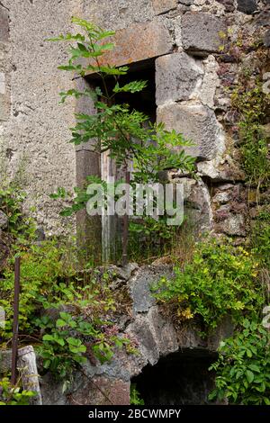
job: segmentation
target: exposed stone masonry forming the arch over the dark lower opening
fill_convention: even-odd
[[[67,392],[62,391],[63,383],[56,383],[51,374],[40,378],[40,391],[43,404],[59,405],[125,405],[130,403],[130,381],[139,375],[146,366],[157,365],[162,357],[184,352],[196,363],[196,357],[211,357],[216,352],[222,338],[232,334],[230,320],[224,320],[215,333],[205,339],[200,338],[198,328],[185,325],[176,329],[166,315],[160,312],[150,286],[161,276],[173,275],[170,266],[142,266],[130,264],[125,269],[111,266],[107,272],[114,275],[114,289],[125,289],[126,307],[121,303],[121,311],[115,313],[115,324],[121,336],[128,337],[136,346],[136,354],[116,350],[111,362],[100,365],[88,356],[85,365],[77,370],[74,382]],[[180,356],[175,365],[183,365]],[[155,371],[154,367],[153,370]],[[203,372],[203,371],[202,371]],[[200,378],[200,374],[197,375]],[[179,374],[178,383],[182,375]],[[205,375],[205,384],[208,381]],[[202,374],[203,378],[203,374]],[[182,381],[186,383],[185,380]],[[193,381],[189,381],[189,387]],[[186,390],[188,388],[186,387]],[[164,389],[166,391],[166,388]],[[194,390],[195,391],[195,390]],[[164,392],[164,395],[168,392]],[[201,392],[201,398],[202,398]],[[173,397],[172,397],[173,398]],[[171,399],[172,399],[171,398]],[[193,397],[189,400],[192,401]],[[207,399],[207,395],[205,396]],[[179,398],[178,398],[179,400]],[[164,402],[163,402],[164,403]],[[177,402],[175,402],[177,403]],[[180,402],[179,402],[180,403]]]

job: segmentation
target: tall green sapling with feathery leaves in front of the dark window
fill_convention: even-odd
[[[130,159],[134,160],[137,171],[135,178],[144,176],[153,171],[157,172],[163,168],[183,167],[190,169],[193,166],[193,157],[184,154],[182,150],[175,153],[173,147],[183,147],[191,143],[184,140],[183,135],[175,130],[167,131],[162,123],[143,127],[143,123],[149,121],[147,115],[136,110],[130,110],[129,104],[113,103],[115,94],[121,92],[137,93],[147,85],[146,81],[132,81],[121,86],[118,76],[126,75],[128,67],[103,66],[99,57],[113,49],[112,42],[103,43],[108,37],[114,35],[113,31],[103,31],[94,23],[85,20],[72,18],[83,31],[83,34],[72,36],[60,35],[53,41],[72,40],[76,47],[70,47],[69,60],[65,66],[58,67],[62,70],[75,71],[80,76],[85,76],[89,71],[95,72],[101,77],[102,88],[97,87],[95,91],[77,91],[75,89],[60,93],[61,102],[68,96],[91,96],[94,99],[95,114],[76,114],[76,126],[71,129],[72,139],[70,142],[78,145],[87,142],[89,139],[98,139],[97,150],[109,150],[111,157],[116,159],[120,165],[127,165]],[[89,58],[87,64],[77,64],[78,59]],[[107,76],[115,77],[115,85],[112,92],[106,81]],[[149,140],[154,142],[150,143]]]

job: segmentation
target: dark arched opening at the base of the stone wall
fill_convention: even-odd
[[[161,357],[157,365],[147,365],[132,378],[145,405],[207,404],[214,387],[214,374],[209,366],[215,353],[184,348]]]

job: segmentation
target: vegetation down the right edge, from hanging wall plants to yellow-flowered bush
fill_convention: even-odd
[[[238,62],[240,69],[230,112],[240,166],[248,190],[256,191],[256,199],[251,201],[257,203],[257,210],[250,242],[245,248],[236,247],[228,238],[197,243],[184,266],[177,266],[176,261],[175,278],[163,278],[154,291],[176,322],[190,320],[202,336],[212,333],[225,316],[233,320],[234,335],[221,342],[219,359],[210,368],[216,372],[211,400],[270,405],[270,338],[269,329],[262,324],[270,289],[270,94],[263,90],[269,52],[259,40],[238,39],[229,45],[230,35],[220,34],[220,53]],[[253,55],[248,62],[250,51]],[[241,63],[244,58],[248,68]]]

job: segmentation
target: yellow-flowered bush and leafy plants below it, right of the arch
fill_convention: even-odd
[[[211,400],[269,405],[270,338],[261,323],[267,298],[263,260],[258,261],[257,249],[206,238],[196,244],[190,263],[175,267],[173,280],[162,278],[153,287],[166,313],[178,324],[191,320],[202,337],[226,316],[232,319],[234,336],[220,344],[219,359],[211,365],[217,374]]]

